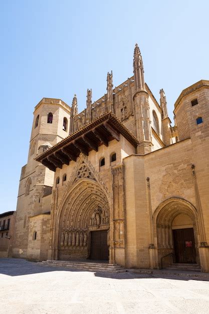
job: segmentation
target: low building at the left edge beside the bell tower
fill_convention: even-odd
[[[16,212],[0,214],[0,257],[12,257]]]

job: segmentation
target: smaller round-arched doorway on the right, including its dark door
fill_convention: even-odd
[[[161,267],[172,262],[195,263],[198,256],[197,212],[192,204],[172,198],[164,201],[155,210],[155,246],[158,252],[158,264]]]

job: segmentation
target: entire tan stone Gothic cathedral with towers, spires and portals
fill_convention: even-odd
[[[184,89],[174,126],[163,89],[133,76],[78,113],[43,98],[35,107],[18,193],[13,257],[107,260],[126,268],[196,263],[209,272],[209,81]],[[172,260],[173,259],[173,260]]]

